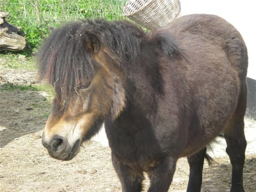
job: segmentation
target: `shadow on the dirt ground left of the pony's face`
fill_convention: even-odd
[[[0,147],[44,128],[50,101],[42,91],[6,89],[0,85]]]

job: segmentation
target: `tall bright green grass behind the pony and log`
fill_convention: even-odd
[[[41,23],[35,0],[5,0],[0,11],[9,12],[7,22],[20,26],[28,43],[36,50],[50,27],[58,27],[66,21],[103,17],[107,20],[122,18],[126,0],[39,0]],[[1,4],[1,3],[0,3]],[[43,33],[43,34],[42,34]]]

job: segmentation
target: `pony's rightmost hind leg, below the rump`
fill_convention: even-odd
[[[230,192],[244,192],[243,166],[245,148],[247,146],[244,136],[244,114],[247,103],[247,86],[241,86],[237,108],[226,127],[224,134],[227,143],[226,153],[232,165],[232,184]]]

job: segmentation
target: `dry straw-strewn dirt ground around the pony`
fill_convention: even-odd
[[[3,83],[29,85],[37,81],[36,72],[0,67]],[[0,89],[0,191],[121,191],[111,164],[110,148],[101,134],[83,144],[71,161],[58,161],[41,145],[41,134],[50,112],[50,101],[43,91]],[[244,187],[256,191],[256,122],[245,121],[248,147],[244,166]],[[203,192],[226,192],[231,185],[231,165],[224,153],[223,139],[211,144],[214,165],[205,162]],[[209,150],[208,150],[209,151]],[[169,191],[185,191],[189,167],[178,161]],[[144,181],[144,190],[149,180]]]

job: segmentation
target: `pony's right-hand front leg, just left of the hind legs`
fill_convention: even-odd
[[[153,167],[149,173],[150,187],[148,192],[167,192],[172,183],[177,158],[165,158]]]

